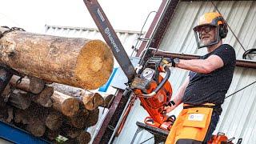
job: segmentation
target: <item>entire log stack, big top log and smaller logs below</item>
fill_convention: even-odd
[[[110,77],[110,48],[100,40],[6,30],[0,27],[0,64],[26,77],[13,75],[2,92],[0,120],[50,141],[62,135],[90,142],[86,128],[98,122],[98,106],[110,106],[113,94],[86,90]]]

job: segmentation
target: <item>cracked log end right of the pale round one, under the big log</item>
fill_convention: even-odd
[[[102,106],[104,98],[99,93],[88,93],[83,95],[82,102],[87,110],[94,110]]]

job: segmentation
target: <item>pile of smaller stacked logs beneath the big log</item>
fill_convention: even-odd
[[[86,128],[98,122],[98,106],[109,106],[113,94],[90,92],[73,86],[47,84],[38,78],[14,75],[0,97],[0,120],[54,142],[58,135],[68,142],[88,143]],[[34,81],[34,89],[30,82]],[[43,85],[42,85],[43,83]]]

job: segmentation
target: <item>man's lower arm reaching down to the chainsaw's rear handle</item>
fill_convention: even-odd
[[[182,103],[182,98],[185,93],[186,86],[188,86],[189,82],[190,82],[190,77],[188,76],[185,79],[185,82],[182,83],[182,86],[180,86],[178,88],[178,92],[174,95],[174,98],[172,101],[174,101],[175,105],[174,106],[166,106],[165,110],[167,113],[169,113],[171,110],[174,110],[175,107],[177,107],[179,104]]]

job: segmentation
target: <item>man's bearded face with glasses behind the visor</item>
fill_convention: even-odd
[[[200,34],[200,40],[203,45],[208,45],[211,42],[216,41],[216,31],[217,27],[215,26],[202,26],[198,29]]]

